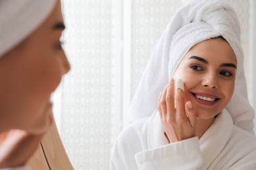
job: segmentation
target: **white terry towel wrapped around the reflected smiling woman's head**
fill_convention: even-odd
[[[239,21],[230,5],[216,0],[191,1],[175,12],[142,74],[131,103],[131,121],[158,108],[160,92],[192,46],[219,36],[230,44],[238,61],[235,90],[226,109],[234,124],[252,132],[254,110],[247,99]]]

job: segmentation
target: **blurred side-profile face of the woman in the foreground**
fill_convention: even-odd
[[[58,1],[24,42],[0,58],[0,130],[43,133],[49,126],[51,93],[70,70],[60,44],[63,29]]]

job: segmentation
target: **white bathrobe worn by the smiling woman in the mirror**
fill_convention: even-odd
[[[256,137],[233,124],[225,109],[203,136],[169,144],[158,111],[117,138],[110,169],[256,169]]]

